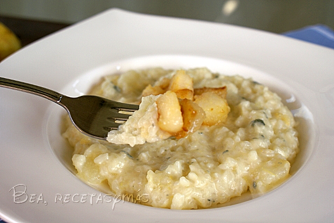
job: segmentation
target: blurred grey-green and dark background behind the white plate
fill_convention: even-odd
[[[0,22],[26,45],[113,7],[275,33],[314,24],[334,29],[334,0],[0,0]]]

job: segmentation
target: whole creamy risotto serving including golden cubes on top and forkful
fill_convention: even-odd
[[[289,177],[299,151],[293,115],[252,79],[207,68],[130,70],[104,77],[91,94],[141,104],[108,141],[66,119],[77,175],[115,195],[145,195],[136,203],[197,209],[263,194]]]

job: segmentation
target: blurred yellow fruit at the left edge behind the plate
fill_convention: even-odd
[[[21,42],[7,26],[0,22],[0,61],[21,48]]]

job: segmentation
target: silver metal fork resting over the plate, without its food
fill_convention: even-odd
[[[135,112],[139,109],[136,104],[116,102],[98,96],[67,97],[47,88],[1,77],[0,87],[35,94],[56,102],[67,110],[72,123],[80,132],[102,140],[106,140],[110,130],[117,129],[122,121],[131,116],[120,112]]]

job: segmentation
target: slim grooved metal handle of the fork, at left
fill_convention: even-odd
[[[27,92],[30,94],[35,94],[35,95],[47,98],[49,100],[52,100],[56,103],[59,103],[63,96],[62,94],[59,94],[58,92],[47,89],[47,88],[43,88],[37,85],[32,85],[32,84],[28,84],[28,83],[24,83],[20,81],[15,81],[15,80],[7,79],[7,78],[1,78],[1,77],[0,77],[0,86],[18,90],[18,91]]]

